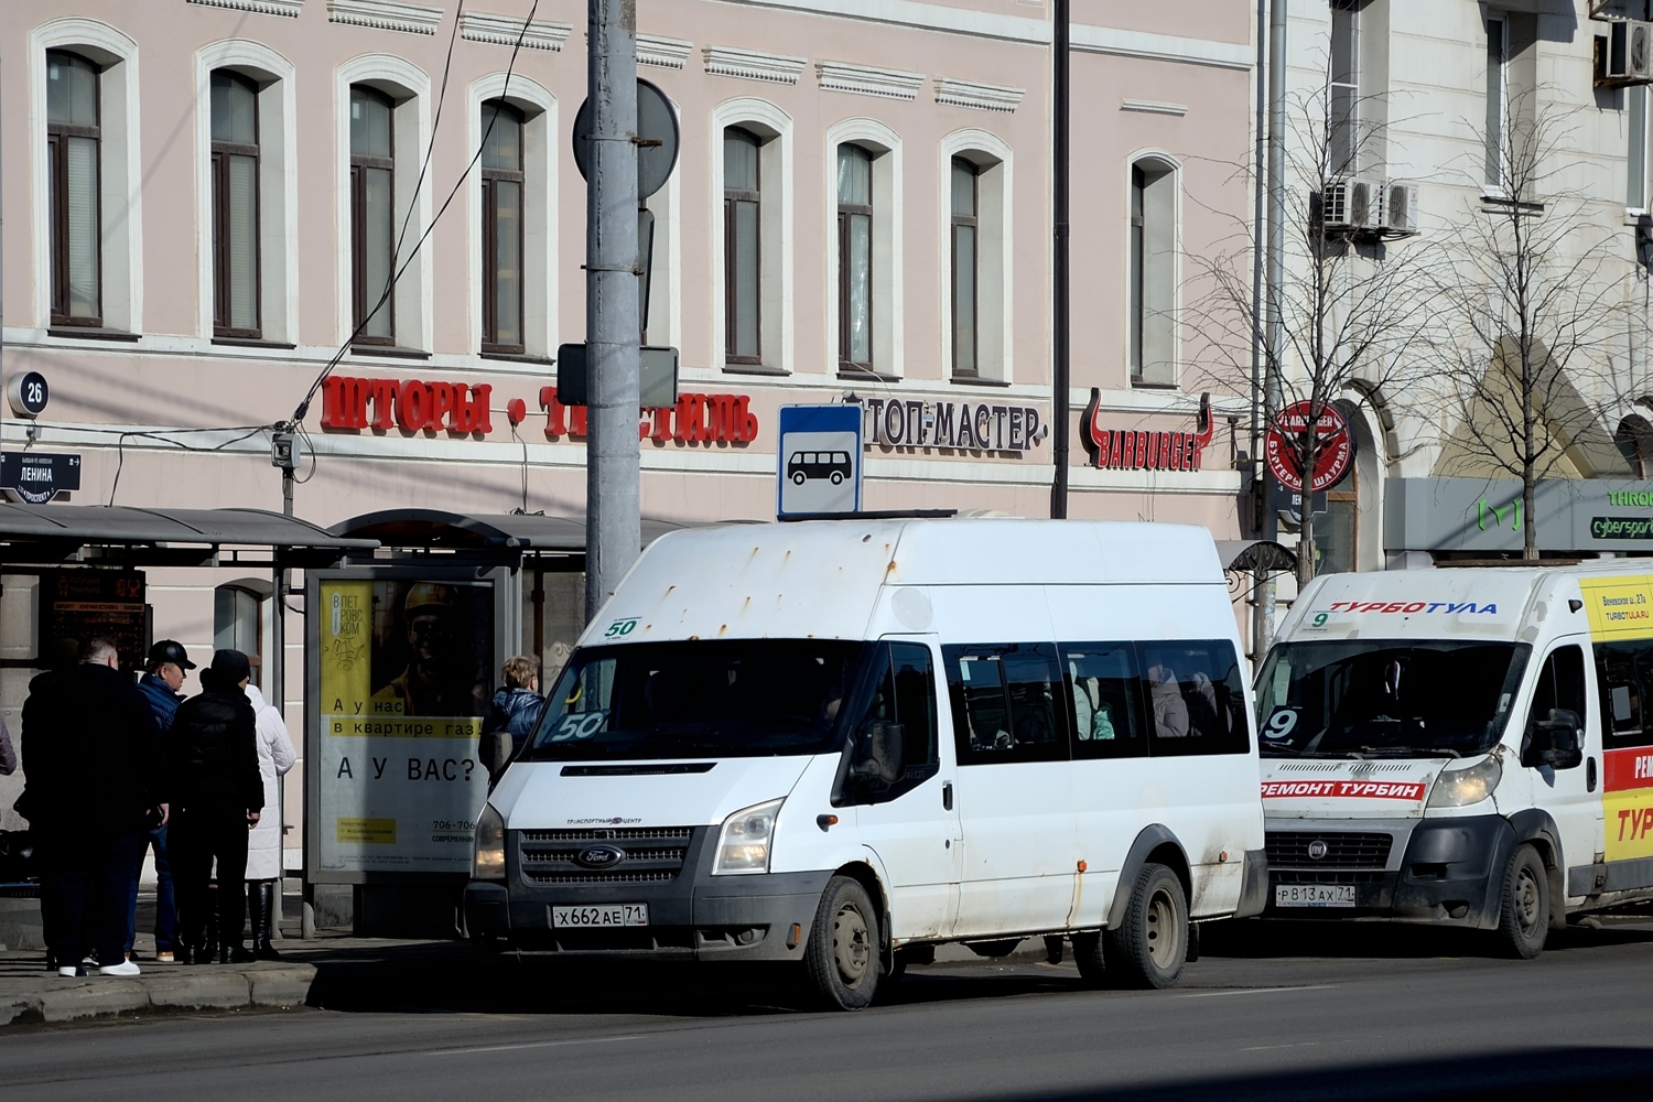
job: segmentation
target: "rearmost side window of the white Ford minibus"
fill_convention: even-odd
[[[1149,753],[1245,753],[1251,724],[1245,679],[1228,639],[1139,643]]]

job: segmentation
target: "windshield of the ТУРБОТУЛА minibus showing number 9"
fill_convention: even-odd
[[[1355,639],[1286,643],[1256,682],[1268,757],[1468,757],[1498,745],[1532,648]]]

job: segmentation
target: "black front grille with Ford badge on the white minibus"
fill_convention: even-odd
[[[693,841],[693,826],[517,831],[517,869],[529,884],[660,884],[678,879]]]

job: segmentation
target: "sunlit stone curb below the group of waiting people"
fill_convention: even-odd
[[[160,973],[134,980],[106,976],[64,980],[63,986],[0,1003],[0,1028],[154,1011],[302,1006],[314,980],[314,965],[283,965],[253,971]]]

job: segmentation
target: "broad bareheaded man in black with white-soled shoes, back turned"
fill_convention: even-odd
[[[64,976],[136,976],[124,958],[127,886],[139,839],[167,821],[160,730],[121,672],[109,639],[91,639],[76,666],[40,674],[23,702],[20,811],[36,838],[46,952]]]

